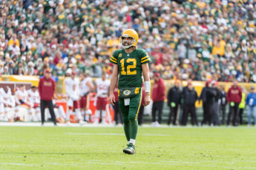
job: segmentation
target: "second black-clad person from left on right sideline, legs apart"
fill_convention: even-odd
[[[182,125],[186,126],[188,121],[188,113],[191,114],[191,124],[194,126],[197,125],[197,115],[196,115],[196,106],[195,103],[198,99],[197,92],[194,90],[194,87],[191,82],[188,83],[188,89],[184,92],[184,110],[183,110],[183,120]]]

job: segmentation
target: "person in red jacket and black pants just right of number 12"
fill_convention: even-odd
[[[151,126],[160,126],[162,122],[163,102],[165,100],[165,83],[163,78],[160,77],[160,73],[154,73],[154,85],[152,92],[152,124]],[[156,114],[158,112],[158,120]]]

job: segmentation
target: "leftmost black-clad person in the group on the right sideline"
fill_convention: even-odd
[[[181,99],[181,90],[180,90],[180,80],[175,81],[175,86],[171,87],[169,89],[168,94],[167,94],[167,103],[168,106],[170,107],[170,113],[169,113],[169,118],[167,124],[170,125],[171,123],[171,117],[174,117],[174,120],[172,121],[173,125],[177,125],[176,120],[177,120],[177,111],[178,111],[178,106],[180,105],[180,99]]]

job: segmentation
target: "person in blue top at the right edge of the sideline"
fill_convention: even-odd
[[[251,86],[251,92],[246,97],[246,105],[248,105],[248,126],[252,125],[251,117],[254,118],[256,126],[256,93],[255,86]]]

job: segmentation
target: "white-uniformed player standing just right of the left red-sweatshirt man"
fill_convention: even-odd
[[[70,126],[70,113],[73,110],[76,112],[76,116],[79,123],[82,125],[85,122],[82,120],[82,115],[79,106],[79,79],[75,78],[76,72],[71,72],[71,77],[65,79],[65,92],[68,95],[68,111],[67,111],[67,125]],[[71,110],[73,107],[73,110]]]

